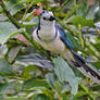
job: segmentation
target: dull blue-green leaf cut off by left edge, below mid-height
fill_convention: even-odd
[[[5,60],[0,60],[0,74],[9,75],[12,74],[12,67]]]

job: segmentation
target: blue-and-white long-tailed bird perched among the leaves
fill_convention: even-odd
[[[51,11],[38,8],[35,16],[39,15],[39,23],[33,29],[33,40],[51,53],[60,54],[65,61],[73,64],[85,76],[100,84],[100,72],[82,55],[75,52],[72,41],[66,36],[63,27],[57,23]]]

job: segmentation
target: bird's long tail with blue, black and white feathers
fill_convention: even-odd
[[[95,83],[100,84],[100,72],[91,65],[89,62],[84,60],[76,52],[72,51],[75,59],[74,65],[87,77],[91,78]]]

